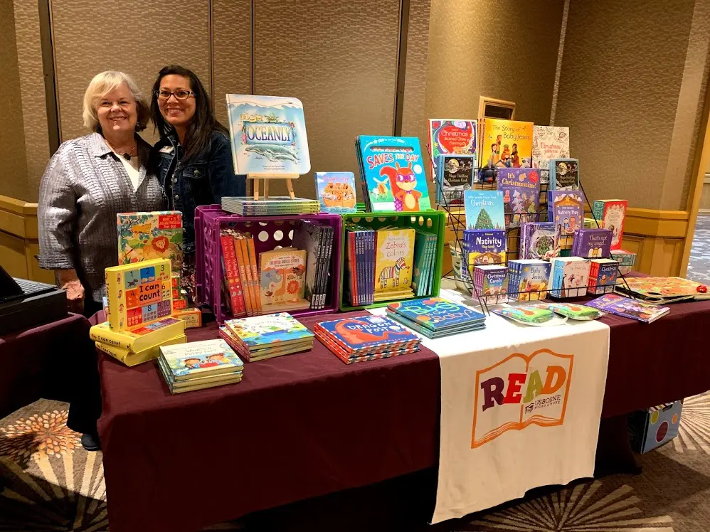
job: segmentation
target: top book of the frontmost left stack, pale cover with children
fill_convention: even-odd
[[[224,340],[160,346],[160,356],[175,381],[232,373],[244,368],[244,363]]]

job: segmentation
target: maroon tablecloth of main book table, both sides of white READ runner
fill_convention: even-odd
[[[710,302],[673,305],[650,325],[603,320],[612,446],[627,445],[625,413],[710,389],[699,347]],[[216,324],[188,336],[215,338]],[[103,356],[100,373],[112,532],[194,531],[438,462],[440,371],[427,349],[346,366],[315,341],[308,353],[246,364],[241,383],[184,395],[169,394],[154,362],[126,368]],[[176,511],[183,504],[189,511]]]

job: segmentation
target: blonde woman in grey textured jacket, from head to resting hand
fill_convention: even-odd
[[[39,263],[57,270],[73,312],[91,316],[102,307],[104,269],[118,263],[116,214],[164,208],[162,188],[147,173],[151,146],[138,135],[149,117],[128,75],[97,74],[84,94],[92,133],[62,144],[42,176]]]

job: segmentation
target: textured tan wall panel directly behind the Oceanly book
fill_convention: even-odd
[[[303,102],[312,171],[357,172],[354,137],[393,132],[399,1],[256,0],[254,16],[255,93]],[[312,172],[295,191],[314,197]]]

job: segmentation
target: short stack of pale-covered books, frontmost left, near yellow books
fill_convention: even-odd
[[[161,346],[160,373],[170,393],[214,388],[242,380],[244,363],[222,340]]]

